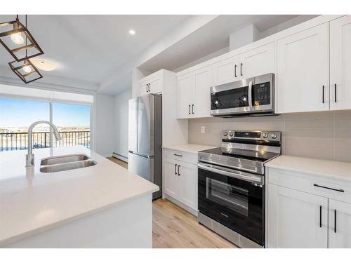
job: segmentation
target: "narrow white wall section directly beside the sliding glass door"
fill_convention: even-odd
[[[105,157],[112,156],[116,140],[113,96],[95,96],[94,133],[95,151]]]

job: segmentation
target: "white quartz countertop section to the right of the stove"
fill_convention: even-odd
[[[270,168],[351,181],[351,163],[281,155],[265,163]]]

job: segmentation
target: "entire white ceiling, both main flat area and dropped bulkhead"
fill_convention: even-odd
[[[135,66],[151,72],[176,69],[228,46],[229,34],[247,25],[256,25],[262,32],[296,16],[28,15],[27,19],[29,31],[44,50],[41,58],[58,66],[53,72],[42,72],[44,79],[36,81],[38,85],[86,88],[115,95],[131,87],[131,70]],[[200,17],[208,19],[204,25],[187,34],[176,34],[193,26]],[[13,18],[15,15],[0,15],[0,22]],[[128,34],[129,29],[135,29],[136,34]],[[166,46],[166,40],[162,41],[170,36],[173,44]],[[157,55],[143,65],[135,65],[148,50],[157,50]],[[11,60],[11,55],[0,46],[0,80],[2,77],[18,81],[8,68]]]

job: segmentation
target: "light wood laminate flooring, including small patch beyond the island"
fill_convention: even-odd
[[[108,158],[128,169],[128,163]],[[152,203],[153,248],[237,248],[197,222],[197,217],[166,199]]]

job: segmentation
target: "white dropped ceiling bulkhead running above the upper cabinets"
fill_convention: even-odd
[[[255,25],[259,32],[293,20],[299,15],[220,15],[196,32],[189,34],[159,55],[140,65],[151,72],[164,68],[173,71],[194,60],[229,46],[229,35],[248,25]],[[303,20],[315,15],[304,15]],[[298,20],[298,22],[302,22]],[[292,26],[292,25],[290,25]]]

